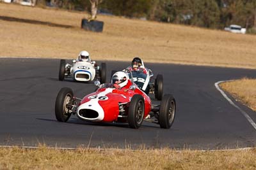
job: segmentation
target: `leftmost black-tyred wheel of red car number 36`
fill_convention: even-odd
[[[55,116],[59,122],[67,122],[68,118],[70,118],[71,113],[69,110],[72,106],[68,106],[72,104],[73,92],[70,88],[63,87],[58,96],[56,97],[55,102]]]

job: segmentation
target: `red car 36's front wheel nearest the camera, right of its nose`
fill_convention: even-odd
[[[132,97],[128,111],[128,123],[133,129],[138,129],[144,117],[145,103],[140,94],[136,94]]]

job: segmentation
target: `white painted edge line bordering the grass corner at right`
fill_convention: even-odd
[[[224,83],[224,82],[228,82],[228,81],[234,81],[234,80],[227,80],[227,81],[218,81],[216,82],[214,85],[216,87],[217,90],[220,91],[220,93],[222,94],[223,97],[225,97],[225,99],[227,99],[227,101],[232,104],[235,108],[237,108],[237,110],[239,110],[244,117],[248,120],[248,122],[250,122],[250,124],[253,126],[253,128],[256,130],[256,124],[255,122],[253,122],[252,118],[245,112],[243,111],[241,108],[239,108],[239,106],[237,106],[228,96],[227,94],[225,94],[225,92],[223,92],[223,90],[220,89],[219,84],[220,83]]]

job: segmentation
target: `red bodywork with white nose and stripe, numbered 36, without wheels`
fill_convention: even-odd
[[[150,97],[148,97],[147,94],[141,91],[136,85],[134,85],[136,87],[135,90],[130,90],[129,87],[131,85],[131,81],[129,80],[129,83],[122,89],[100,88],[96,92],[88,94],[83,98],[81,104],[79,105],[77,110],[77,117],[93,122],[116,122],[118,121],[118,115],[120,113],[119,104],[127,103],[127,106],[129,107],[131,98],[135,94],[140,94],[143,96],[145,101],[144,118],[147,117],[148,113],[151,111]],[[86,111],[84,112],[84,115],[86,115],[85,117],[83,116],[82,112],[79,112],[83,109],[87,111],[87,113]],[[102,111],[104,112],[103,117]],[[128,108],[125,110],[125,112],[126,111],[128,112]],[[92,112],[97,112],[99,117],[92,118],[93,116],[90,115]]]

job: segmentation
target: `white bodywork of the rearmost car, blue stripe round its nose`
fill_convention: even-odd
[[[70,75],[76,81],[92,81],[95,78],[95,67],[90,62],[79,61],[70,68]]]

